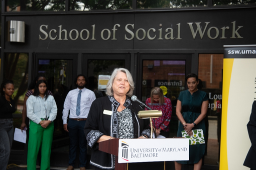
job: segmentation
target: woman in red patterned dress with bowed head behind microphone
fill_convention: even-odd
[[[164,96],[163,90],[160,87],[154,87],[151,90],[150,97],[147,98],[146,104],[152,110],[161,110],[163,115],[158,118],[153,118],[153,128],[157,135],[161,134],[169,137],[169,123],[172,116],[172,102]]]

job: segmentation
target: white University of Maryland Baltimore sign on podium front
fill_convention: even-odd
[[[188,159],[188,138],[119,139],[118,163]]]

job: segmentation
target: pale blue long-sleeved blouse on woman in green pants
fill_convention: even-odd
[[[57,116],[57,105],[52,95],[48,95],[47,99],[41,96],[30,95],[26,102],[27,116],[39,124],[41,118],[48,118],[53,121]]]

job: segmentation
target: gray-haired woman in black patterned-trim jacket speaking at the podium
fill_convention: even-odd
[[[98,150],[98,142],[112,138],[150,136],[149,120],[137,116],[142,108],[131,100],[133,91],[134,81],[129,70],[115,68],[107,83],[108,96],[92,102],[84,133],[92,148],[90,163],[95,166],[95,170],[114,169],[114,155]]]

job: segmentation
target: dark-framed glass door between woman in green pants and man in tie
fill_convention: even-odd
[[[68,166],[69,136],[63,129],[62,110],[69,90],[74,89],[77,75],[77,54],[37,53],[34,77],[46,76],[48,89],[52,91],[58,112],[54,120],[51,166]]]

